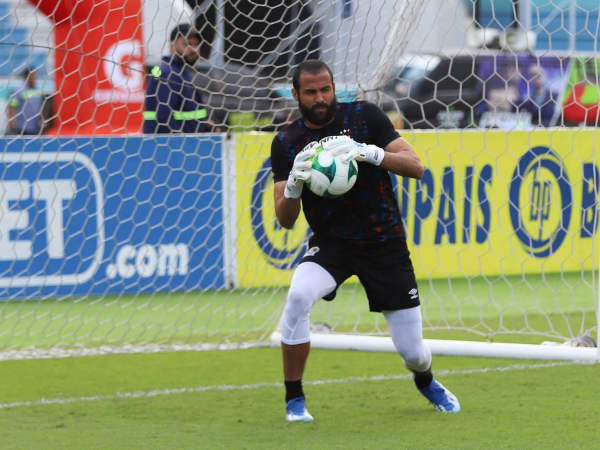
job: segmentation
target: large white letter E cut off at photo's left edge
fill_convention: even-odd
[[[29,181],[2,181],[0,183],[0,260],[14,261],[30,259],[33,252],[31,241],[12,241],[12,230],[23,230],[29,226],[27,211],[10,211],[10,201],[27,200],[31,195]]]

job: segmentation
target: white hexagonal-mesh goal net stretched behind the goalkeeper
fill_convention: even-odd
[[[277,341],[310,230],[277,223],[270,144],[314,58],[425,164],[392,180],[434,352],[596,359],[563,350],[598,328],[600,16],[563,3],[0,3],[0,359]],[[154,70],[182,23],[211,132],[143,134],[149,80],[190,87]],[[390,348],[355,278],[311,320]]]

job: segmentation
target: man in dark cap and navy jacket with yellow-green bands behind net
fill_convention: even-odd
[[[155,66],[146,89],[144,133],[202,133],[208,130],[204,101],[192,70],[200,58],[200,33],[189,24],[171,31],[171,54]]]

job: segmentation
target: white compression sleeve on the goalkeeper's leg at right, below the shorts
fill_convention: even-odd
[[[399,311],[383,311],[394,347],[404,365],[415,372],[431,367],[431,350],[423,341],[423,322],[419,306]]]

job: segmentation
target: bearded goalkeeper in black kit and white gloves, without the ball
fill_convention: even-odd
[[[271,146],[275,213],[279,223],[291,229],[302,203],[314,234],[294,272],[281,321],[286,420],[313,420],[302,389],[310,311],[320,298],[333,300],[352,275],[363,284],[370,311],[383,313],[419,391],[438,411],[459,412],[456,397],[431,373],[417,282],[389,174],[421,179],[423,164],[377,106],[337,103],[333,75],[325,63],[300,64],[293,86],[302,118],[278,133]],[[346,163],[358,162],[356,183],[343,197],[324,198],[302,189],[319,145]]]

